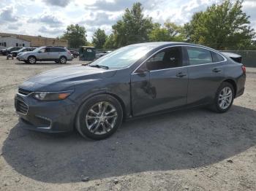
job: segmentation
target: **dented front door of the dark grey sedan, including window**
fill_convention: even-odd
[[[157,52],[131,74],[134,116],[187,104],[187,67],[182,47]]]

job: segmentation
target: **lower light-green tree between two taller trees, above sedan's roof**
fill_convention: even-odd
[[[183,27],[170,23],[169,20],[161,27],[159,23],[154,24],[154,29],[148,34],[151,42],[159,41],[184,41]]]

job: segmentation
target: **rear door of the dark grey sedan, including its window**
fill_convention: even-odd
[[[225,79],[225,58],[202,47],[186,47],[189,74],[187,104],[213,101],[217,88]]]

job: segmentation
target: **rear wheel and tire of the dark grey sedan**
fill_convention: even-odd
[[[227,112],[234,101],[234,87],[228,82],[222,82],[214,98],[212,109],[217,113]]]

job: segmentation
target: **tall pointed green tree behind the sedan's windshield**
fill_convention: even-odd
[[[153,23],[151,17],[144,17],[141,4],[135,3],[132,9],[125,10],[122,20],[118,20],[112,28],[115,46],[122,47],[127,44],[147,42]]]

